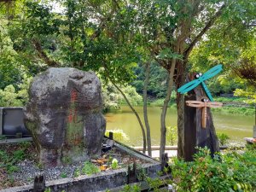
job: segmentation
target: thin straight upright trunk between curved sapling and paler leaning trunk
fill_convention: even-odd
[[[144,81],[144,88],[143,88],[143,114],[144,114],[144,122],[146,126],[146,131],[147,131],[148,155],[152,156],[150,126],[148,123],[148,108],[147,108],[147,101],[148,101],[147,91],[148,91],[149,73],[150,73],[150,63],[146,62],[145,63],[145,81]]]

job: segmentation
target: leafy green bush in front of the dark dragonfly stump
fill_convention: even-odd
[[[199,148],[193,162],[173,160],[173,181],[177,191],[252,191],[256,188],[255,154],[255,149],[226,151],[212,159],[209,149]]]

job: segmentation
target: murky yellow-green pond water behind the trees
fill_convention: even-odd
[[[136,107],[143,120],[143,107]],[[152,145],[160,145],[160,107],[148,107],[148,120],[150,124]],[[226,114],[221,112],[212,113],[213,122],[217,132],[225,133],[230,137],[230,142],[245,143],[244,137],[253,136],[253,116],[241,116]],[[121,110],[106,113],[107,130],[123,130],[130,137],[126,144],[131,146],[142,146],[143,137],[137,118],[128,106],[123,106]],[[176,108],[168,108],[166,114],[166,125],[177,125]]]

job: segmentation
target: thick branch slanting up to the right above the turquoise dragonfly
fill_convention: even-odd
[[[210,27],[214,24],[215,20],[218,19],[220,15],[222,15],[223,9],[225,8],[225,4],[221,6],[220,9],[215,13],[214,16],[207,22],[207,25],[198,33],[198,35],[194,38],[194,40],[189,44],[189,47],[184,50],[183,55],[185,58],[189,56],[189,53],[194,48],[195,44],[201,39],[201,37],[210,29]]]

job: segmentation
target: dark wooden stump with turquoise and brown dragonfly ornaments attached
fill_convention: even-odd
[[[189,81],[195,79],[195,75],[189,75]],[[201,101],[207,98],[201,85],[194,90],[190,90],[186,101]],[[210,149],[212,157],[215,152],[219,151],[218,138],[216,136],[215,127],[212,122],[211,109],[207,108],[207,126],[202,128],[202,108],[191,108],[185,104],[184,106],[184,159],[192,161],[193,155],[197,152],[195,147]]]

